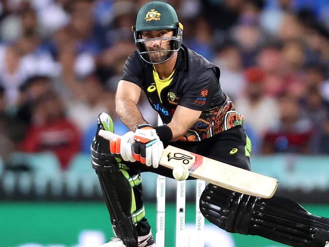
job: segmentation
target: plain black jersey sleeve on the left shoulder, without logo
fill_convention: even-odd
[[[143,68],[142,62],[138,57],[137,52],[133,52],[126,60],[124,65],[124,72],[122,73],[121,80],[127,80],[136,84],[140,88],[143,86]]]

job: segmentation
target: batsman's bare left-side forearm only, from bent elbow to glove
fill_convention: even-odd
[[[130,99],[117,100],[115,111],[121,121],[132,131],[135,131],[136,126],[147,123],[135,102]]]

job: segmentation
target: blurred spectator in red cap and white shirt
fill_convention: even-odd
[[[244,95],[235,101],[236,109],[241,112],[245,123],[257,134],[253,135],[259,143],[264,134],[274,127],[278,120],[278,104],[274,98],[264,94],[264,80],[266,74],[260,67],[251,67],[244,72],[246,85]],[[253,148],[253,152],[259,152]]]

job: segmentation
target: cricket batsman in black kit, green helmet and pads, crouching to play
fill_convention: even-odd
[[[106,113],[98,117],[91,145],[92,166],[103,190],[116,238],[103,247],[156,246],[145,217],[141,172],[173,178],[158,166],[169,144],[250,170],[251,141],[243,117],[221,90],[220,69],[182,44],[183,25],[174,8],[145,4],[133,27],[137,50],[127,59],[116,92],[116,112],[131,131],[110,142]],[[164,125],[149,125],[136,104],[141,90]],[[189,178],[191,179],[191,178]],[[307,212],[287,198],[250,196],[209,184],[200,199],[211,223],[240,234],[259,235],[296,247],[324,247],[329,219]]]

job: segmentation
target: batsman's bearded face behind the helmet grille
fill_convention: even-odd
[[[170,29],[153,30],[153,31],[142,31],[143,39],[147,38],[168,38],[174,35],[174,31]],[[171,56],[171,52],[163,52],[165,50],[172,50],[170,46],[171,40],[150,40],[145,42],[146,48],[151,51],[159,51],[149,53],[150,60],[154,63],[166,60]]]

